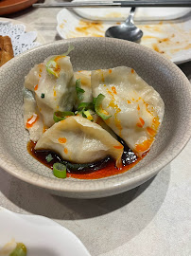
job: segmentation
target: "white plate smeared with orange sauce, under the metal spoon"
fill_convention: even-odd
[[[112,21],[87,21],[67,9],[61,9],[57,21],[61,38],[104,37],[108,27],[120,24]],[[141,45],[160,52],[175,64],[191,60],[191,19],[179,22],[155,21],[138,27],[144,31]]]

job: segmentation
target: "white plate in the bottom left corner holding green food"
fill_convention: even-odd
[[[58,223],[0,207],[0,255],[10,241],[24,243],[27,256],[90,256],[78,237]]]

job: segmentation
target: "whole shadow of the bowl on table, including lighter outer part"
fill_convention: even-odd
[[[99,199],[72,199],[44,192],[0,171],[0,190],[9,199],[9,206],[12,204],[10,210],[57,219],[90,253],[100,255],[128,243],[148,226],[165,201],[169,179],[167,165],[129,192]]]

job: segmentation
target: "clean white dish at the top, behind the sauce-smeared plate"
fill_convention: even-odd
[[[74,0],[73,2],[80,2]],[[94,0],[84,0],[84,2]],[[102,0],[108,1],[108,0]],[[92,20],[124,21],[130,12],[130,8],[82,8],[75,9],[78,15]],[[191,8],[137,8],[134,16],[135,21],[148,20],[172,20],[180,18],[191,11]]]

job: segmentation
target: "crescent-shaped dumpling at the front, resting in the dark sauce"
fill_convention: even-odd
[[[123,146],[98,124],[73,116],[55,123],[35,146],[35,150],[52,150],[65,160],[90,163],[113,156],[121,167]]]

